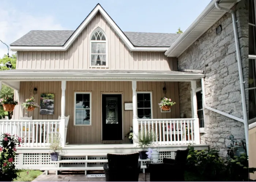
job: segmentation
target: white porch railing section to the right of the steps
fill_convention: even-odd
[[[139,131],[152,130],[157,145],[193,144],[195,119],[138,119]]]

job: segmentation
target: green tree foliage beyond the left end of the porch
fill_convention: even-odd
[[[0,64],[1,65],[3,65],[4,64],[4,66],[0,66],[0,71],[1,70],[9,70],[9,68],[7,68],[6,66],[5,66],[5,64],[7,63],[7,62],[11,62],[11,64],[12,64],[12,69],[15,69],[16,68],[16,60],[17,60],[17,58],[16,58],[16,55],[15,54],[13,54],[11,57],[9,57],[8,58],[8,56],[7,55],[4,55],[3,56],[3,58],[1,58],[0,59]],[[10,87],[8,87],[8,86],[6,86],[6,85],[4,85],[3,84],[3,86],[2,86],[2,90],[0,91],[0,97],[2,98],[2,97],[5,97],[5,96],[12,96],[12,97],[14,97],[14,90],[12,89],[12,88],[10,88]],[[6,116],[8,113],[7,112],[5,112],[4,111],[4,108],[3,108],[3,106],[2,105],[0,105],[0,117],[2,116],[2,117],[4,117],[4,116]],[[8,114],[9,115],[9,114]],[[0,118],[1,119],[1,118]]]

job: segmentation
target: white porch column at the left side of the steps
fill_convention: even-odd
[[[66,81],[61,81],[61,121],[60,121],[60,136],[61,145],[65,146],[65,95],[66,95]]]

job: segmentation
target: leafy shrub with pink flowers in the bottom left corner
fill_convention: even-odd
[[[20,145],[21,138],[8,133],[2,134],[0,138],[0,181],[13,181],[17,178],[18,170],[15,169],[14,159],[16,146]]]

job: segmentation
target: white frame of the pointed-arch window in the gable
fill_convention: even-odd
[[[97,31],[98,29],[100,29],[102,31],[106,40],[91,40],[95,31]],[[106,66],[92,66],[91,65],[91,55],[92,55],[92,53],[91,53],[91,43],[105,43],[106,44]],[[97,55],[105,55],[105,54],[97,54]],[[109,67],[109,62],[108,62],[108,38],[106,36],[106,33],[100,27],[95,28],[93,33],[91,33],[91,36],[90,36],[90,67],[91,68],[108,68]]]

